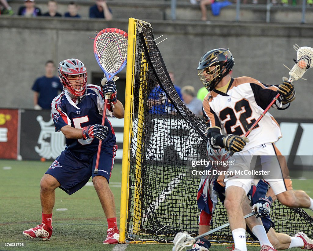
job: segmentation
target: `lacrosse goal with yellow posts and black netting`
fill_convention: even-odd
[[[208,160],[206,125],[178,96],[151,25],[131,18],[128,35],[125,128],[129,131],[124,131],[123,151],[129,150],[123,156],[120,238],[171,242],[182,231],[196,236],[199,179],[190,173],[193,160]],[[275,202],[272,212],[277,232],[293,236],[303,231],[313,237],[313,219],[302,209]],[[219,202],[211,228],[227,222]],[[224,228],[210,239],[232,241],[232,236]]]

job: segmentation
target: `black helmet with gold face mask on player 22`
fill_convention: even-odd
[[[229,49],[214,49],[204,53],[198,65],[198,76],[208,91],[212,91],[234,66],[234,58]],[[214,69],[211,67],[216,66]],[[210,75],[210,76],[208,76]]]

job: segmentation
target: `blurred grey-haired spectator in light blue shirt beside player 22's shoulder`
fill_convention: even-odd
[[[182,101],[197,116],[202,114],[202,101],[196,98],[195,88],[191,85],[186,85],[182,88]]]

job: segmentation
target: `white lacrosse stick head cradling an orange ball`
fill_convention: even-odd
[[[298,80],[303,76],[307,69],[313,67],[313,48],[311,47],[299,47],[294,45],[297,51],[297,59],[295,60],[295,65],[289,72],[289,82]]]

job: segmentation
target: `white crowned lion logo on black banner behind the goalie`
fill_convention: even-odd
[[[48,122],[45,122],[42,116],[37,116],[36,119],[41,128],[37,141],[40,147],[35,146],[36,153],[46,159],[58,157],[65,148],[64,134],[55,132],[52,118]]]

